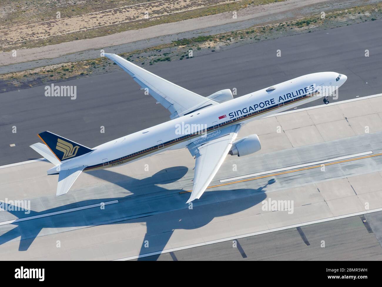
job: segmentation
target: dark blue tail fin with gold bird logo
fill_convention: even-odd
[[[91,148],[72,142],[71,140],[65,139],[65,137],[60,137],[52,132],[46,131],[38,135],[59,161],[75,158],[92,151]]]

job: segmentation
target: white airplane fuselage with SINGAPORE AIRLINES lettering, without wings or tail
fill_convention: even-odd
[[[231,124],[264,118],[327,97],[329,94],[325,95],[324,89],[320,90],[319,86],[340,87],[346,81],[346,76],[336,81],[337,76],[338,73],[334,72],[308,74],[274,85],[275,89],[269,92],[262,89],[212,105],[94,147],[93,152],[64,161],[61,168],[87,166],[84,171],[109,168],[163,150],[185,148],[200,139],[200,132],[208,134]]]

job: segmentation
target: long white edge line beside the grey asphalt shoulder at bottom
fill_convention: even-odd
[[[218,240],[206,241],[206,242],[197,243],[197,244],[193,244],[193,245],[187,245],[187,246],[183,246],[183,247],[171,248],[171,249],[166,249],[166,250],[162,250],[162,251],[142,254],[142,255],[120,258],[120,259],[116,259],[113,261],[133,260],[133,259],[137,259],[137,258],[148,257],[148,256],[158,255],[158,254],[163,254],[163,253],[168,253],[168,252],[175,252],[178,250],[184,250],[184,249],[189,249],[189,248],[194,248],[194,247],[199,247],[199,246],[206,246],[206,245],[210,245],[210,244],[214,244],[214,243],[231,241],[231,240],[250,237],[250,236],[254,236],[254,235],[265,234],[265,233],[270,233],[270,232],[275,232],[275,231],[280,231],[280,230],[285,230],[285,229],[290,229],[290,228],[296,228],[296,227],[300,227],[300,226],[306,226],[306,225],[321,223],[321,222],[326,222],[326,221],[332,221],[332,220],[336,220],[336,219],[348,218],[348,217],[352,217],[352,216],[362,215],[362,214],[366,214],[366,213],[373,213],[373,212],[377,212],[377,211],[382,211],[382,208],[365,210],[365,211],[361,211],[361,212],[350,213],[350,214],[346,214],[346,215],[335,216],[335,217],[330,217],[330,218],[325,218],[325,219],[319,219],[319,220],[309,221],[309,222],[305,222],[305,223],[293,224],[293,225],[289,225],[289,226],[278,227],[278,228],[274,228],[274,229],[268,229],[268,230],[264,230],[264,231],[258,231],[258,232],[253,232],[253,233],[248,233],[248,234],[244,234],[244,235],[238,235],[238,236],[233,236],[233,237],[228,237],[228,238],[223,238],[223,239],[218,239]]]

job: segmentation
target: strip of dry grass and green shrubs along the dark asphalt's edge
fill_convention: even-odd
[[[280,32],[286,34],[285,32],[290,31],[291,34],[298,34],[305,30],[324,25],[327,25],[326,28],[336,27],[338,24],[348,20],[370,21],[375,19],[373,17],[382,18],[382,3],[328,12],[325,19],[316,15],[308,16],[291,21],[254,26],[240,31],[199,36],[191,39],[180,39],[173,41],[172,44],[163,44],[145,50],[122,53],[120,55],[138,65],[142,65],[142,63],[144,63],[144,65],[151,65],[161,61],[185,60],[188,58],[187,51],[189,49],[209,49],[210,51],[214,51],[214,49],[219,49],[222,45],[230,45],[245,39],[261,41],[272,38],[275,35],[280,35]],[[170,52],[164,53],[162,52],[163,49],[167,49]],[[112,67],[113,63],[108,58],[98,58],[95,60],[58,64],[28,71],[3,74],[0,75],[0,79],[15,86],[20,86],[25,83],[29,83],[29,86],[32,86],[34,82],[41,84],[41,82],[44,81],[61,81],[79,76],[89,76],[92,73],[104,73],[105,71],[110,71]]]

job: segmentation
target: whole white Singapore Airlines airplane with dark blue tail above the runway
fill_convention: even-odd
[[[170,121],[120,137],[94,148],[45,131],[42,143],[31,145],[55,166],[56,196],[63,195],[82,171],[121,166],[165,150],[187,148],[195,159],[193,189],[186,203],[199,199],[226,156],[245,156],[261,149],[259,137],[236,140],[241,127],[256,119],[327,97],[343,85],[344,74],[320,72],[282,82],[238,98],[230,89],[203,97],[169,82],[128,60],[105,53],[140,86],[170,111]],[[330,89],[328,89],[330,87]]]

